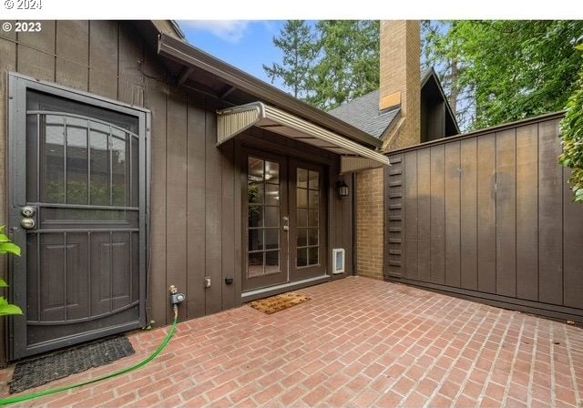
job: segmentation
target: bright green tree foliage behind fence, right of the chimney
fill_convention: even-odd
[[[435,60],[455,56],[457,88],[471,100],[467,128],[486,128],[565,107],[583,57],[583,21],[455,21],[435,33]],[[446,64],[445,64],[446,66]],[[441,76],[446,69],[437,69]]]

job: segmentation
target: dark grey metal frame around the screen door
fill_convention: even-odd
[[[66,339],[64,346],[77,342],[86,342],[104,337],[119,331],[136,329],[146,325],[147,299],[147,260],[149,241],[149,180],[150,180],[150,112],[148,109],[133,107],[117,100],[62,87],[45,81],[37,81],[29,76],[22,76],[9,72],[8,83],[8,146],[6,158],[8,163],[7,204],[8,228],[12,240],[22,250],[21,257],[10,257],[8,262],[9,299],[20,306],[23,316],[8,319],[7,356],[12,361],[27,355],[46,352],[55,348],[53,342],[41,343],[35,347],[26,347],[26,322],[15,324],[16,319],[26,319],[26,230],[20,227],[20,209],[26,204],[26,91],[33,89],[54,97],[62,97],[77,103],[93,107],[102,107],[131,117],[138,117],[139,135],[139,307],[138,320],[125,325],[114,326],[103,331],[89,331],[84,334]],[[25,135],[25,136],[23,136]],[[24,187],[23,187],[24,186]],[[18,343],[18,345],[16,345]]]

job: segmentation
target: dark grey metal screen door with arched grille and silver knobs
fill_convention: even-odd
[[[12,320],[12,358],[144,322],[140,117],[33,89],[16,120],[25,115],[13,143],[11,228],[26,249],[13,268],[26,278],[13,289],[26,315]]]

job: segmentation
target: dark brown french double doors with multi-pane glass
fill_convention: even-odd
[[[242,289],[254,291],[326,273],[323,168],[246,150]]]

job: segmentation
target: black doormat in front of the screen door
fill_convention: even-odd
[[[20,393],[135,353],[126,336],[110,337],[16,363],[10,393]]]

